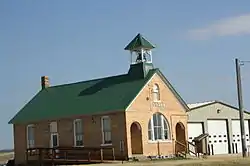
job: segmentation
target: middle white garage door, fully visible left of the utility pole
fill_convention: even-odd
[[[208,120],[209,143],[211,155],[228,153],[228,131],[226,120]]]

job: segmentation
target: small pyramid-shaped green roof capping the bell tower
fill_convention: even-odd
[[[124,49],[133,51],[140,48],[153,49],[155,46],[138,33],[138,35]]]

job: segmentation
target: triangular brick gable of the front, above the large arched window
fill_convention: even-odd
[[[154,84],[160,88],[160,102],[154,102],[152,96],[152,89]],[[145,84],[141,92],[136,96],[127,110],[136,110],[138,108],[147,110],[150,104],[161,105],[156,107],[164,107],[162,109],[175,110],[175,111],[188,111],[188,107],[181,96],[176,92],[169,81],[163,77],[162,73],[158,70],[152,78]],[[140,105],[140,107],[138,107]]]

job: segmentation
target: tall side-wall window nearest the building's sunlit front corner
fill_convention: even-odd
[[[108,116],[102,117],[103,144],[111,144],[111,120]]]

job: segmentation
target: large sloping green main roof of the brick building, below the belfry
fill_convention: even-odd
[[[134,77],[136,73],[128,73],[45,88],[39,91],[9,123],[29,123],[77,115],[124,111],[155,73],[163,78],[180,103],[188,109],[186,103],[159,69],[151,69],[146,77]]]

